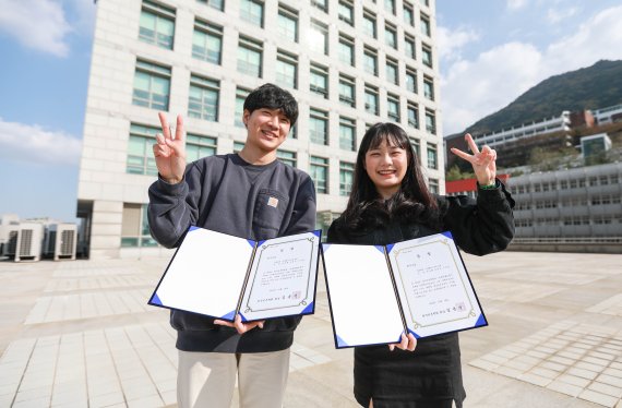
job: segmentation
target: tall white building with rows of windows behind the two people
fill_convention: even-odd
[[[92,257],[155,255],[148,185],[158,111],[186,119],[189,160],[241,148],[242,103],[275,83],[299,103],[278,152],[311,175],[318,223],[344,208],[356,149],[378,121],[410,135],[444,185],[432,0],[99,0],[77,189]]]

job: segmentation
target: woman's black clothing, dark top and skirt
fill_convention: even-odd
[[[331,243],[388,244],[450,230],[465,252],[486,255],[504,250],[514,237],[514,200],[498,188],[479,190],[477,201],[467,196],[438,196],[439,227],[423,223],[388,220],[371,229],[352,231],[343,218],[328,229]],[[421,338],[414,352],[386,346],[355,349],[355,396],[375,408],[416,407],[416,403],[454,399],[460,407],[463,387],[457,333]]]

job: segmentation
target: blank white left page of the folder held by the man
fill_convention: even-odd
[[[193,228],[149,303],[232,321],[252,252],[252,241]]]

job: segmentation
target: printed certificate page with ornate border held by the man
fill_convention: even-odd
[[[242,298],[247,321],[313,312],[320,231],[260,242]]]

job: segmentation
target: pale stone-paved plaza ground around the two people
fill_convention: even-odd
[[[175,406],[175,333],[167,311],[146,304],[167,263],[0,262],[0,407]],[[460,333],[465,407],[622,408],[622,255],[465,263],[490,323]],[[285,406],[356,407],[351,371],[321,273]]]

